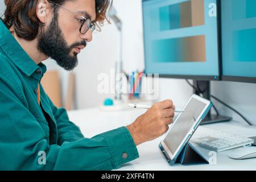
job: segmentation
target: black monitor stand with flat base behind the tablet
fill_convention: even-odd
[[[199,90],[194,89],[195,94],[200,96],[200,92],[201,92],[203,94],[204,98],[206,98],[207,100],[210,100],[210,81],[194,80],[193,85],[195,86],[195,88],[199,89]],[[209,123],[216,123],[216,122],[230,121],[231,119],[232,119],[231,117],[211,114],[211,112],[209,111],[207,116],[201,122],[201,125],[205,125],[205,124],[209,124]]]

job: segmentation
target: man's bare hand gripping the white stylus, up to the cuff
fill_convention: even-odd
[[[174,111],[175,106],[171,100],[154,104],[146,113],[127,126],[134,143],[138,146],[166,133],[169,129],[168,125],[173,122]]]

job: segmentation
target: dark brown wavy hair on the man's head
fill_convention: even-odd
[[[55,3],[63,5],[67,1],[74,0],[48,0],[55,10],[59,9],[59,7],[55,6]],[[43,26],[36,16],[38,0],[5,0],[4,2],[6,10],[2,21],[5,26],[9,29],[14,26],[15,33],[19,38],[34,40]],[[95,0],[95,2],[96,22],[100,27],[103,26],[105,19],[109,21],[107,11],[112,6],[112,0]]]

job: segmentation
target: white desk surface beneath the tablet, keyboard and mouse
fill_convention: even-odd
[[[117,127],[127,126],[132,123],[139,115],[143,114],[143,109],[131,109],[123,111],[101,111],[98,108],[69,111],[69,118],[80,127],[86,138],[104,133]],[[212,129],[220,129],[234,134],[251,137],[256,134],[256,127],[250,127],[239,122],[223,122],[211,125],[204,125]],[[245,132],[246,131],[246,132]],[[250,134],[253,133],[253,134]],[[251,136],[250,136],[251,135]],[[176,164],[170,166],[158,148],[162,138],[151,142],[146,142],[138,146],[140,158],[130,163],[124,164],[119,170],[256,170],[256,158],[246,160],[234,160],[228,157],[229,151],[217,153],[216,165],[193,165],[182,166]],[[205,157],[209,150],[197,147]],[[207,156],[206,156],[207,155]],[[209,157],[208,157],[209,158]]]

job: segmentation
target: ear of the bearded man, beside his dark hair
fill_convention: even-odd
[[[49,14],[49,2],[47,0],[39,0],[36,6],[36,16],[43,24],[47,22],[47,16]]]

